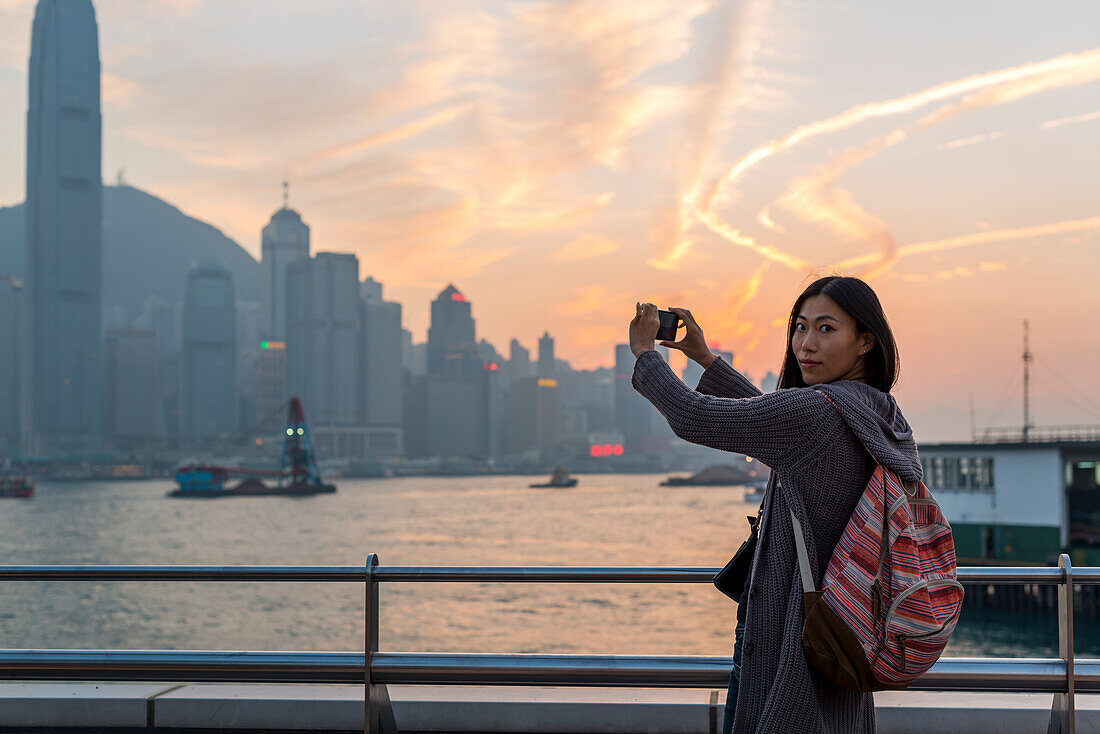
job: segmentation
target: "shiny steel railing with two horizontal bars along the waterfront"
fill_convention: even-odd
[[[717,569],[631,567],[0,566],[0,581],[283,581],[365,587],[363,653],[0,649],[0,680],[188,680],[363,683],[364,728],[396,732],[388,684],[726,688],[733,659],[713,656],[387,653],[378,649],[382,583],[710,583]],[[1054,693],[1050,732],[1075,731],[1075,690],[1100,692],[1100,660],[1074,660],[1074,585],[1100,567],[958,569],[977,584],[1056,584],[1057,658],[941,658],[913,690]]]

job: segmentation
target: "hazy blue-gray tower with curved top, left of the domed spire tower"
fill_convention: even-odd
[[[237,305],[233,276],[200,264],[184,289],[180,435],[189,442],[237,434]]]

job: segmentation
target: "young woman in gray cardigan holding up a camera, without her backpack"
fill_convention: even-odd
[[[772,469],[745,609],[738,610],[744,627],[738,625],[725,731],[873,732],[871,694],[833,684],[803,655],[802,583],[788,507],[802,524],[820,588],[876,459],[903,480],[921,479],[912,430],[890,395],[898,349],[882,306],[858,278],[811,284],[791,309],[779,390],[768,394],[711,353],[691,311],[672,310],[686,333],[661,344],[705,368],[698,386],[684,385],[653,350],[657,307],[638,304],[630,321],[635,390],[680,438]]]

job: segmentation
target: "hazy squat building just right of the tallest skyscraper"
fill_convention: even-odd
[[[110,331],[105,352],[103,436],[116,448],[150,446],[161,432],[156,332]]]

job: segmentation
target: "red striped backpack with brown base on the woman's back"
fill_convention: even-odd
[[[876,463],[821,591],[791,511],[804,592],[802,647],[823,676],[860,692],[916,680],[943,653],[963,611],[955,543],[939,505],[924,482],[902,482]]]

